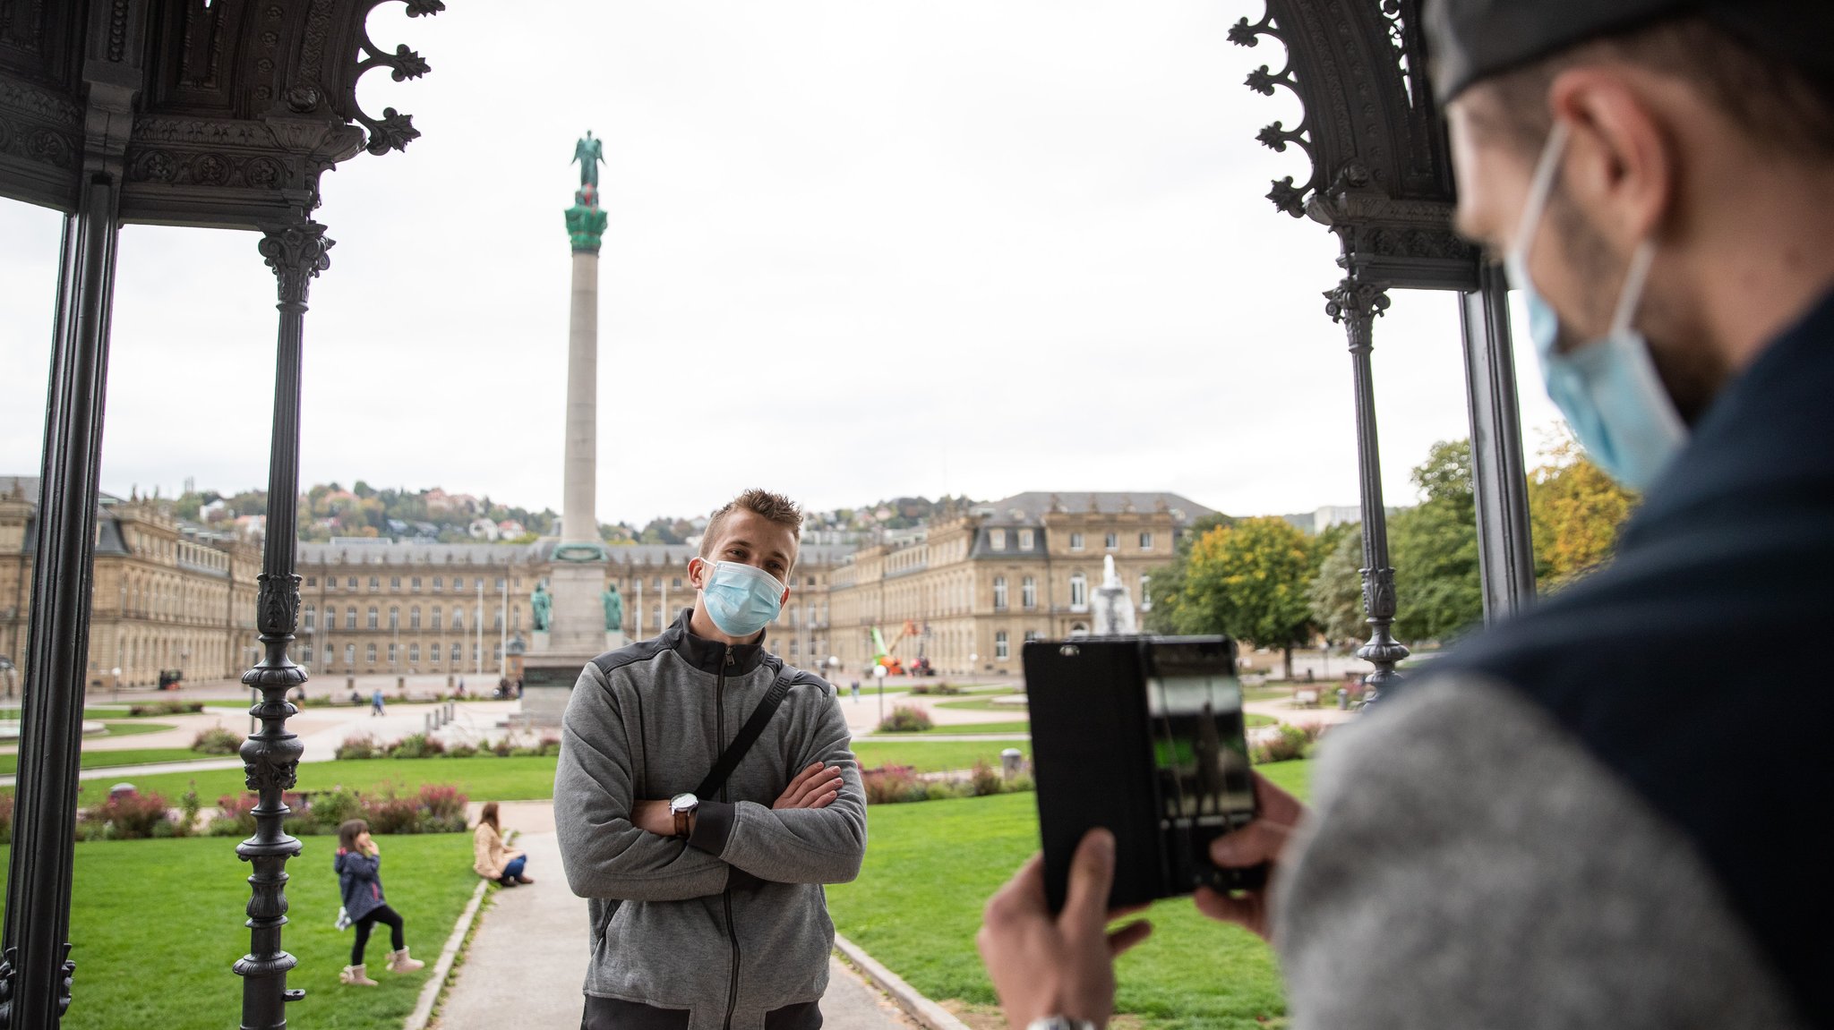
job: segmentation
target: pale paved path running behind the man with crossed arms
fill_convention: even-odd
[[[547,801],[506,801],[504,828],[528,852],[534,883],[497,891],[479,916],[477,935],[458,966],[435,1030],[565,1028],[580,1025],[585,977],[585,900],[567,889],[554,808]],[[827,1030],[911,1030],[913,1023],[860,977],[829,959],[822,999]]]

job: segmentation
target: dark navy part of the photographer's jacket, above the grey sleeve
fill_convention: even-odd
[[[1682,830],[1816,1026],[1830,586],[1834,293],[1715,400],[1608,568],[1434,669],[1511,684]]]

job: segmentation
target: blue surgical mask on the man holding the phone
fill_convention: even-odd
[[[1687,427],[1649,357],[1649,339],[1630,324],[1643,301],[1656,244],[1643,240],[1630,257],[1608,334],[1564,354],[1559,350],[1561,317],[1528,277],[1528,255],[1553,192],[1566,137],[1566,123],[1553,123],[1504,268],[1509,284],[1528,301],[1528,335],[1535,341],[1553,407],[1561,409],[1579,445],[1607,475],[1630,489],[1647,489],[1687,444]]]

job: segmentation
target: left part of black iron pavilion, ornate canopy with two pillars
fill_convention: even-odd
[[[369,35],[394,0],[11,0],[0,4],[0,196],[55,207],[64,224],[39,535],[28,636],[18,808],[0,953],[0,1028],[51,1028],[70,1004],[70,878],[88,652],[103,385],[114,253],[123,222],[262,233],[279,291],[268,533],[259,575],[262,656],[242,682],[260,722],[242,746],[259,794],[242,1026],[281,1028],[295,959],[281,948],[286,860],[299,854],[282,792],[303,751],[286,693],[306,680],[288,656],[299,618],[293,574],[299,389],[306,295],[330,268],[312,220],[319,178],[367,150],[407,147],[413,117],[358,103],[363,75],[418,79],[425,59]],[[402,0],[409,16],[444,0]],[[72,687],[72,685],[77,687]]]

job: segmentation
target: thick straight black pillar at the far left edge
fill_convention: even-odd
[[[64,220],[0,960],[7,1030],[55,1028],[75,973],[70,880],[119,200],[119,180],[95,172]]]

